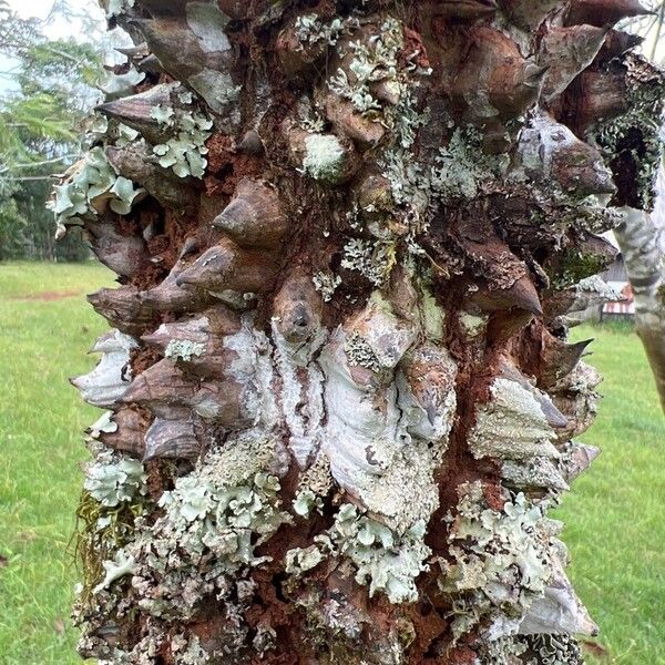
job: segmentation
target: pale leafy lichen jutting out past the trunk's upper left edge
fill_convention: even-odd
[[[98,208],[106,202],[114,213],[126,215],[143,192],[135,188],[132,181],[117,175],[104,149],[98,146],[86,153],[63,184],[54,187],[49,207],[62,227],[76,217],[96,218]]]

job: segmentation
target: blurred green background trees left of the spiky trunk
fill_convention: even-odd
[[[13,84],[0,94],[0,258],[84,258],[75,235],[55,246],[44,203],[51,176],[80,152],[82,120],[100,100],[101,45],[48,39],[42,21],[21,19],[0,0],[0,53],[12,63]]]

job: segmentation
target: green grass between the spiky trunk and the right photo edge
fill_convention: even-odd
[[[602,448],[573,484],[566,523],[569,573],[601,627],[601,663],[665,663],[665,419],[642,346],[631,327],[581,326],[587,359],[605,377],[593,427],[580,439]],[[590,658],[591,659],[591,658]]]

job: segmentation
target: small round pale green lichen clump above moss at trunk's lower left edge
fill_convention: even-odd
[[[83,487],[102,505],[113,508],[145,494],[146,475],[143,464],[133,458],[103,450],[88,464]]]

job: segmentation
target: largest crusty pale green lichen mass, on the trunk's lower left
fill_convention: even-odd
[[[226,441],[162,494],[164,514],[124,548],[146,613],[188,618],[205,597],[231,593],[232,575],[266,561],[255,549],[293,521],[270,472],[275,446],[250,434]]]

